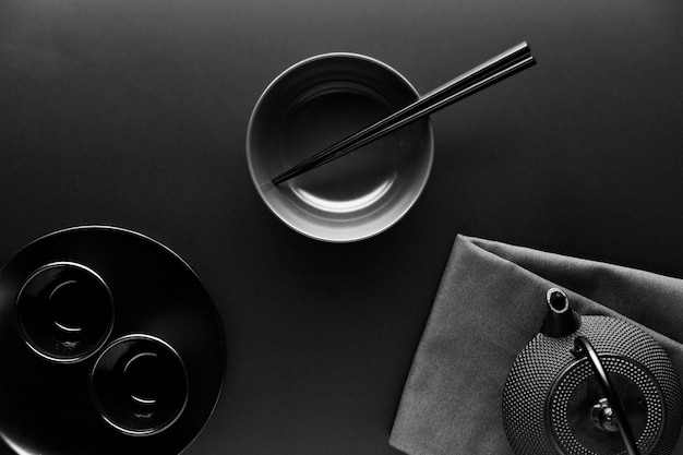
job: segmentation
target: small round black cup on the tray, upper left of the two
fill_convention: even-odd
[[[105,344],[113,325],[107,284],[73,262],[55,262],[34,272],[19,292],[15,310],[28,347],[56,362],[88,358]]]

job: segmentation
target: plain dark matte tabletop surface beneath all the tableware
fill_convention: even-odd
[[[0,0],[0,261],[105,224],[189,262],[228,362],[188,455],[396,454],[457,232],[683,277],[682,21],[649,0]],[[354,51],[426,93],[522,40],[535,68],[433,117],[430,181],[388,231],[323,243],[261,202],[247,124],[285,68]]]

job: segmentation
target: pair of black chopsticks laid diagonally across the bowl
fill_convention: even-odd
[[[416,101],[385,117],[339,142],[336,142],[321,152],[310,156],[279,173],[271,181],[274,184],[281,183],[301,173],[323,166],[337,159],[347,153],[362,147],[392,131],[398,130],[416,120],[429,116],[451,104],[458,101],[474,93],[479,92],[496,82],[504,80],[522,70],[534,65],[536,61],[531,56],[531,49],[523,41],[489,61],[471,69],[455,77],[432,92],[420,96]]]

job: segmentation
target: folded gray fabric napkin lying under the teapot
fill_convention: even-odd
[[[390,443],[410,455],[512,454],[503,388],[515,357],[539,332],[553,286],[579,314],[645,328],[683,378],[682,279],[458,236]],[[674,454],[683,454],[681,440]]]

